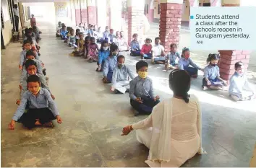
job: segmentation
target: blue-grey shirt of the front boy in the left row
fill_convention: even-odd
[[[56,117],[56,115],[59,115],[59,111],[56,107],[54,100],[51,98],[50,92],[48,92],[48,90],[46,89],[41,88],[38,92],[37,97],[35,97],[35,95],[28,90],[23,94],[20,105],[17,108],[17,111],[14,113],[12,120],[17,121],[20,119],[20,117],[25,112],[27,103],[30,109],[48,107],[53,113],[54,117]]]

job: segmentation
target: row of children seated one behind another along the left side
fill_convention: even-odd
[[[37,43],[32,33],[25,32],[22,51],[20,53],[19,68],[22,70],[20,77],[20,98],[17,100],[17,111],[14,112],[9,129],[15,128],[15,123],[22,123],[25,128],[35,126],[53,127],[52,120],[62,123],[59,111],[54,102],[46,82],[46,69],[40,60]],[[39,47],[39,46],[38,46]]]

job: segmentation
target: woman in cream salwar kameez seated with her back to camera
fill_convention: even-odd
[[[163,100],[153,108],[145,120],[123,128],[127,135],[136,130],[137,140],[150,151],[150,167],[180,167],[202,150],[200,105],[195,97],[189,98],[190,76],[187,71],[174,70],[169,86],[174,97]]]

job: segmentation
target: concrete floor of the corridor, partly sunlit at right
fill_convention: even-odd
[[[101,81],[95,63],[69,57],[72,49],[56,40],[55,27],[42,23],[41,59],[63,123],[55,128],[28,131],[17,123],[8,130],[19,95],[20,44],[1,50],[1,166],[2,167],[147,167],[148,149],[135,132],[120,136],[121,129],[147,116],[134,117],[128,94],[115,95]],[[185,36],[182,32],[182,46]],[[199,64],[205,58],[192,53]],[[198,56],[198,57],[197,57]],[[135,71],[138,58],[127,56]],[[155,93],[171,97],[168,73],[150,65]],[[202,146],[208,154],[196,155],[183,167],[248,167],[256,141],[256,101],[232,102],[226,91],[202,92],[202,73],[192,81],[191,93],[202,106]]]

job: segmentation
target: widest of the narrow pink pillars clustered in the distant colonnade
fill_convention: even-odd
[[[87,11],[88,11],[88,24],[96,25],[97,24],[97,12],[96,12],[96,1],[89,0]]]

